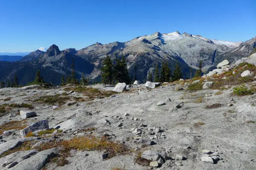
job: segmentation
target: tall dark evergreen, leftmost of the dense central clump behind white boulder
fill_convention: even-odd
[[[102,82],[105,84],[111,84],[113,81],[113,63],[109,55],[102,61],[103,67],[100,68],[102,71]]]

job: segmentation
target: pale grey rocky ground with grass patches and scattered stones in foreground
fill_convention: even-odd
[[[255,170],[256,93],[223,77],[0,89],[0,169]]]

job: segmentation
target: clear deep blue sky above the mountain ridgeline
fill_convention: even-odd
[[[256,36],[256,0],[0,0],[0,52],[77,50],[156,31],[228,41]]]

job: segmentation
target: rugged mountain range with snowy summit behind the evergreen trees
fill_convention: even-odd
[[[208,71],[224,59],[235,62],[247,57],[255,48],[256,37],[246,42],[228,42],[186,32],[180,34],[178,31],[167,34],[155,32],[127,42],[96,43],[81,50],[69,48],[60,51],[58,46],[51,45],[46,52],[33,51],[17,62],[1,61],[0,80],[10,80],[16,73],[20,84],[24,85],[34,79],[36,70],[41,70],[46,82],[57,85],[62,75],[67,77],[70,74],[74,58],[78,78],[84,72],[93,82],[99,82],[101,62],[107,55],[113,61],[124,55],[131,77],[135,75],[137,65],[137,79],[141,82],[146,81],[149,71],[154,74],[156,64],[163,60],[168,62],[171,70],[178,63],[186,78],[190,77],[191,67],[194,71],[197,69],[200,60],[203,70]]]

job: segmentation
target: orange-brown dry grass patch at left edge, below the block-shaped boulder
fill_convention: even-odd
[[[11,130],[11,129],[24,129],[27,127],[27,121],[26,120],[21,120],[21,121],[10,121],[7,122],[3,125],[0,125],[0,134],[3,134],[4,131],[6,130]]]

